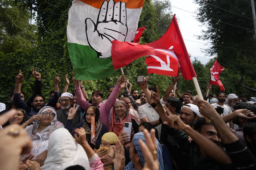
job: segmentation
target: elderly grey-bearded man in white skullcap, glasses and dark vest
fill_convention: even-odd
[[[57,114],[57,120],[60,121],[61,123],[63,123],[65,125],[67,119],[68,119],[68,110],[71,108],[71,105],[73,104],[73,94],[65,92],[61,94],[60,97],[60,105],[61,105],[61,109],[56,111]],[[80,110],[77,109],[76,111],[76,115],[73,118],[73,123],[72,126],[75,127],[76,124],[78,124],[79,122],[82,122],[83,119],[80,115]]]

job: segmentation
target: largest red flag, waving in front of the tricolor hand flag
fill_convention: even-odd
[[[175,15],[166,33],[157,41],[140,45],[138,43],[114,40],[112,41],[111,54],[114,69],[124,67],[144,55],[168,55],[170,58],[176,60],[176,63],[173,62],[175,64],[174,67],[170,65],[172,70],[173,68],[177,68],[179,63],[184,79],[191,80],[192,77],[196,77],[196,72],[191,64]]]

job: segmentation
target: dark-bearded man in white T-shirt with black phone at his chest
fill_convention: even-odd
[[[224,92],[219,92],[217,94],[217,99],[218,99],[218,102],[211,104],[211,106],[219,110],[219,112],[218,111],[217,112],[220,114],[220,116],[225,116],[230,114],[232,112],[230,107],[224,104],[226,101],[226,94]],[[222,111],[222,108],[223,108],[223,111]],[[231,126],[232,129],[234,128],[234,124],[232,122],[227,123],[227,125],[228,127]]]

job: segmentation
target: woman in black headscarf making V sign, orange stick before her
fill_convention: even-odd
[[[84,112],[84,122],[78,123],[74,128],[72,128],[72,122],[73,118],[76,114],[76,110],[78,107],[74,105],[74,107],[71,107],[68,111],[68,119],[65,124],[65,128],[68,129],[68,131],[71,133],[71,135],[74,137],[74,129],[84,128],[86,132],[86,141],[88,144],[92,147],[92,149],[99,149],[100,148],[100,141],[101,137],[108,132],[107,127],[102,124],[99,120],[100,117],[100,110],[95,105],[91,105],[86,108]],[[94,117],[94,124],[95,124],[95,130],[94,130],[94,139],[91,140],[91,118]]]

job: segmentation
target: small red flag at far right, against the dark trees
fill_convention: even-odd
[[[222,85],[221,81],[220,81],[220,73],[224,70],[224,68],[220,65],[220,63],[218,63],[218,61],[216,60],[213,65],[212,68],[210,69],[211,72],[211,81],[210,81],[210,85],[218,85],[220,87],[221,91],[225,91],[224,86]]]

